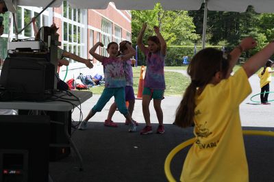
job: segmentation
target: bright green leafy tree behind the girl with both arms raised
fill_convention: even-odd
[[[153,10],[132,11],[133,44],[136,44],[136,38],[143,23],[147,23],[147,31],[143,38],[145,44],[147,44],[148,36],[154,35],[154,25],[160,27],[161,34],[166,40],[168,47],[170,45],[193,45],[193,42],[197,42],[199,39],[199,35],[195,32],[195,25],[192,18],[188,16],[188,12],[163,10],[160,3],[156,3]],[[182,55],[186,55],[182,53],[182,49],[179,52],[171,49],[168,49],[166,55],[166,65],[170,65],[170,62],[176,63],[176,60],[182,60]],[[140,51],[138,51],[138,64],[145,64],[145,57]],[[177,66],[176,64],[173,65]]]

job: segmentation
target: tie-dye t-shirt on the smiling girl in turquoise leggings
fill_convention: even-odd
[[[121,57],[104,57],[102,64],[105,88],[125,87],[124,63]]]

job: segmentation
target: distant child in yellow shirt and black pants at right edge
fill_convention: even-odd
[[[271,60],[268,60],[266,64],[264,65],[264,68],[262,71],[258,73],[258,76],[260,78],[260,88],[261,88],[261,103],[264,105],[270,104],[269,99],[269,83],[271,82],[271,73],[274,73],[274,70],[271,70],[273,68],[273,62]]]

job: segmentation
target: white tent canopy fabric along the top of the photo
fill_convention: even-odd
[[[12,1],[12,0],[5,0]],[[51,0],[14,0],[17,5],[42,6]],[[68,0],[73,8],[105,9],[110,0]],[[203,0],[112,0],[119,10],[152,10],[160,2],[164,10],[199,10]],[[59,7],[62,0],[55,0],[51,7]],[[245,12],[248,5],[253,5],[256,12],[274,12],[273,0],[208,0],[208,10]]]

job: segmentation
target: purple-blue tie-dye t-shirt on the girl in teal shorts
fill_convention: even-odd
[[[145,73],[144,87],[164,90],[166,84],[164,81],[164,55],[161,51],[157,53],[146,52],[147,55],[147,70]]]

